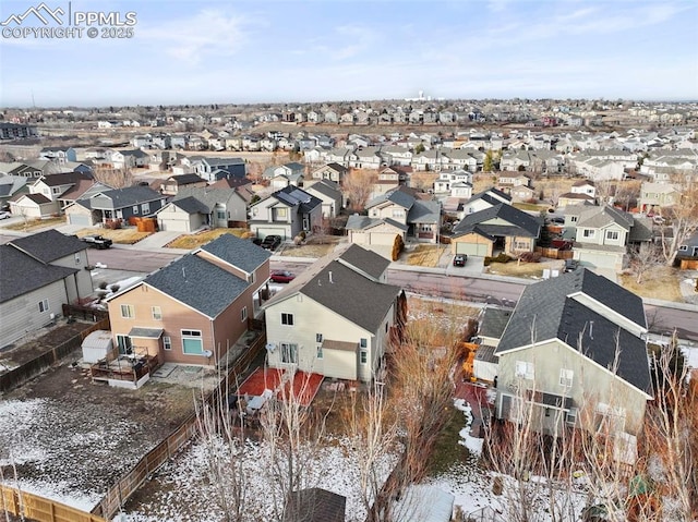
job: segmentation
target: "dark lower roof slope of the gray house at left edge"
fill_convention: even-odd
[[[0,303],[60,281],[77,271],[76,268],[45,265],[11,245],[0,245]]]

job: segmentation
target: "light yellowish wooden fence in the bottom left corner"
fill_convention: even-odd
[[[0,485],[0,509],[38,522],[108,522],[64,503]]]

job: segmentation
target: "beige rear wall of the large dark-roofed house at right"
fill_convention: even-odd
[[[520,379],[515,376],[517,361],[533,363],[533,380]],[[566,388],[559,384],[562,368],[571,369],[573,385]],[[614,408],[622,406],[625,411],[624,432],[637,435],[642,427],[647,397],[624,380],[614,377],[607,371],[590,362],[577,351],[566,347],[559,340],[552,340],[537,347],[502,353],[498,362],[498,394],[497,416],[502,392],[516,394],[518,384],[527,388],[534,387],[538,391],[545,391],[570,398],[574,406],[579,410],[578,427],[587,430],[595,429],[594,410],[599,403]],[[551,409],[552,410],[552,409]],[[559,418],[552,411],[545,416],[545,408],[537,406],[532,411],[534,423],[542,426],[546,433],[562,427],[564,418]]]

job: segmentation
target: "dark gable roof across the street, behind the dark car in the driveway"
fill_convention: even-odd
[[[510,224],[486,223],[486,221],[492,219],[502,219]],[[500,203],[494,207],[468,214],[454,227],[453,232],[454,236],[478,232],[490,236],[525,235],[528,238],[538,238],[541,226],[541,218],[534,218],[512,205]]]

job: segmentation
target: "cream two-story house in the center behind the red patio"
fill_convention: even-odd
[[[264,306],[268,364],[325,377],[370,381],[405,324],[389,262],[351,245],[318,259]]]

